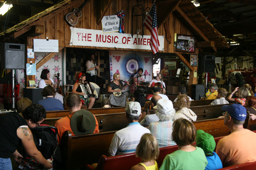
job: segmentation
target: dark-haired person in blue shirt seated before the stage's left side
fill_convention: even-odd
[[[37,104],[42,105],[46,111],[64,110],[61,101],[53,98],[55,94],[56,92],[52,86],[45,86],[42,91],[42,96],[46,97],[46,99],[37,101]]]

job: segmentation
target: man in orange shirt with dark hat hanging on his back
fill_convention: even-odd
[[[81,110],[82,103],[78,94],[68,95],[67,106],[70,115],[55,123],[55,127],[58,129],[59,144],[67,130],[71,131],[72,136],[99,133],[99,124],[96,117],[88,110]]]

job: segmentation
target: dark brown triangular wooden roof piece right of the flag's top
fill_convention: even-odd
[[[180,4],[180,1],[181,0],[176,2],[166,2],[165,4],[156,4],[158,9],[157,10],[157,27],[158,28],[162,26],[164,21],[171,15],[171,13],[175,10],[175,8]]]

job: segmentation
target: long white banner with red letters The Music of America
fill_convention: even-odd
[[[150,35],[132,35],[127,33],[102,33],[101,30],[91,30],[84,28],[71,29],[70,46],[92,46],[108,48],[130,48],[148,49],[150,48]],[[159,50],[164,51],[164,36],[158,36]]]

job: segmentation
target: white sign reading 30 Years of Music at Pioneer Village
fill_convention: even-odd
[[[117,15],[104,16],[101,19],[102,32],[111,33],[119,31],[120,18]]]

